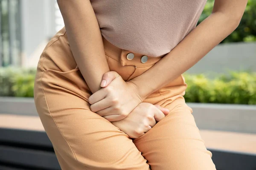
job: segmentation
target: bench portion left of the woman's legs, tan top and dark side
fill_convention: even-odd
[[[0,114],[0,170],[61,170],[38,116]]]

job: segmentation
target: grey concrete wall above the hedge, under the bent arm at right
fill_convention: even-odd
[[[190,68],[191,74],[256,71],[256,42],[220,44]]]

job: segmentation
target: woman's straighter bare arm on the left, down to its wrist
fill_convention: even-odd
[[[109,71],[102,35],[90,0],[57,0],[68,41],[76,63],[88,87],[100,89],[104,73]]]

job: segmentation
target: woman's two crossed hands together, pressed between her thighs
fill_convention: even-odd
[[[169,113],[158,105],[145,103],[133,82],[125,82],[115,71],[102,77],[101,87],[89,97],[90,109],[131,138],[138,138]]]

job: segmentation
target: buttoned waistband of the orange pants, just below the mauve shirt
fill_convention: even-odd
[[[104,48],[105,48],[105,53],[113,58],[116,59],[117,61],[121,62],[122,66],[125,65],[134,65],[136,67],[146,67],[149,65],[154,65],[156,62],[158,62],[164,55],[160,57],[151,57],[151,56],[146,56],[143,54],[138,54],[134,53],[132,51],[124,50],[121,48],[116,47],[115,45],[111,44],[102,36]],[[134,58],[131,59],[127,55],[128,54],[134,54]],[[130,54],[130,56],[133,56]],[[142,57],[144,57],[142,59]],[[143,63],[144,62],[144,63]]]

